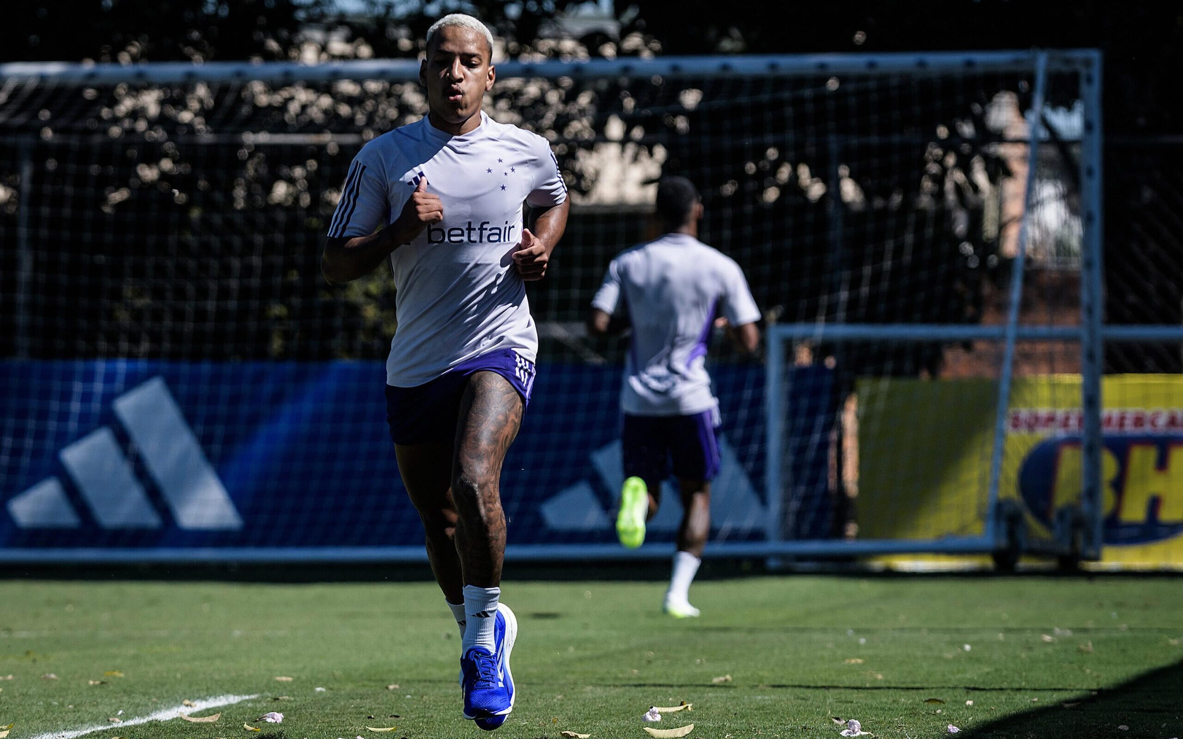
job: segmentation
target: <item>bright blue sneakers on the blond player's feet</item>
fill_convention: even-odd
[[[493,625],[496,653],[473,647],[460,657],[464,689],[464,718],[477,721],[485,731],[498,728],[513,711],[513,675],[510,653],[517,638],[517,617],[505,604],[497,608]]]

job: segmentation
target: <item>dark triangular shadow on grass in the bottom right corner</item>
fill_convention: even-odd
[[[990,721],[965,732],[993,739],[1170,739],[1183,735],[1183,661],[1113,688]]]

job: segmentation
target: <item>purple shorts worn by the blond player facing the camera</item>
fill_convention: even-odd
[[[451,443],[460,420],[460,401],[474,372],[497,372],[530,404],[534,362],[512,349],[499,349],[458,364],[414,388],[386,385],[386,422],[396,445]]]

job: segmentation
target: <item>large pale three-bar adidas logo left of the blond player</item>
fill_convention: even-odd
[[[160,377],[132,388],[112,402],[148,474],[156,482],[180,529],[226,531],[243,527],[234,503],[218,478],[181,408]],[[162,521],[115,433],[103,427],[75,441],[58,459],[103,529],[160,529]],[[7,504],[21,529],[78,529],[75,511],[58,478],[49,478]]]

